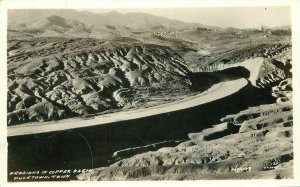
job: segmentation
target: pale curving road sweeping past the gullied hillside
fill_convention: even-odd
[[[45,123],[30,123],[23,124],[18,126],[8,127],[7,136],[20,136],[20,135],[29,135],[29,134],[37,134],[37,133],[46,133],[53,131],[61,131],[67,129],[75,129],[82,127],[90,127],[96,125],[103,125],[107,123],[113,123],[118,121],[126,121],[133,120],[153,115],[158,115],[162,113],[174,112],[177,110],[183,110],[191,107],[195,107],[198,105],[206,104],[229,95],[232,95],[242,88],[244,88],[248,84],[248,81],[244,78],[230,80],[226,82],[221,82],[219,84],[214,85],[209,90],[194,95],[192,97],[170,102],[167,104],[130,110],[130,111],[120,111],[111,114],[104,114],[100,116],[93,117],[91,119],[80,119],[80,118],[72,118],[67,120],[61,120],[58,122],[45,122]]]

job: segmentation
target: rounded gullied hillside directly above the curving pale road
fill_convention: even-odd
[[[9,49],[9,125],[94,114],[149,99],[142,93],[133,97],[136,87],[171,83],[180,91],[191,85],[188,67],[169,47],[90,42],[45,38]]]

